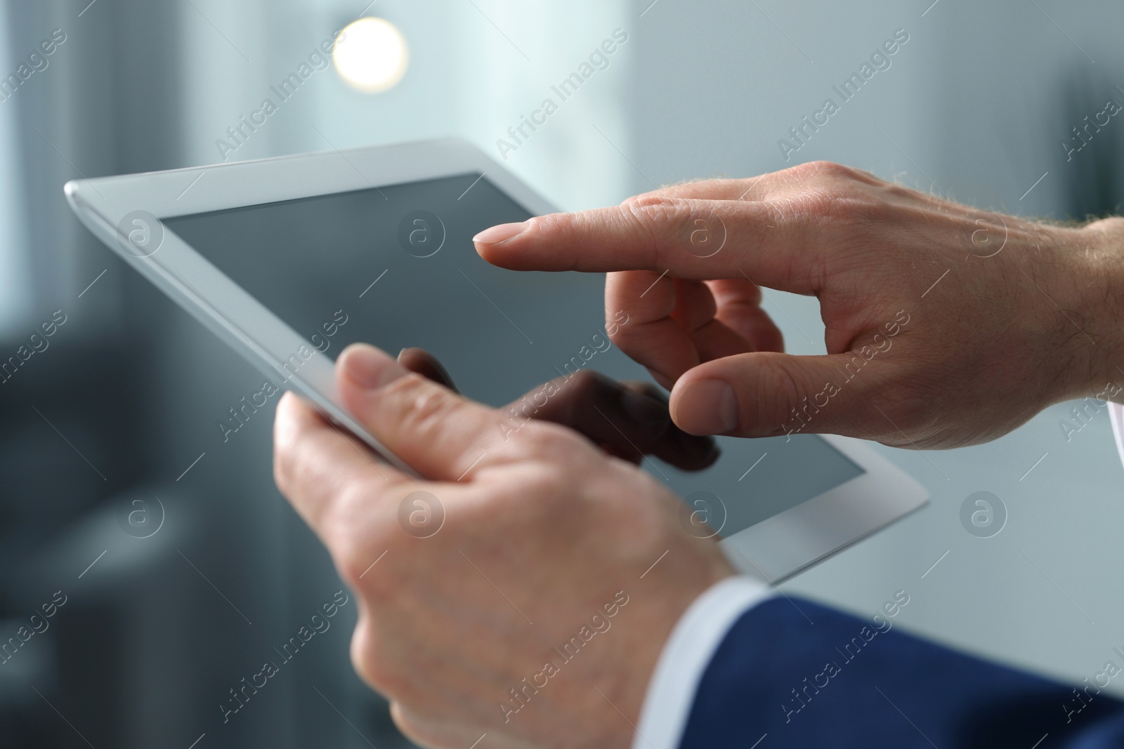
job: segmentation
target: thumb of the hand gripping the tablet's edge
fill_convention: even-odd
[[[360,423],[427,478],[468,478],[496,441],[495,411],[409,372],[373,346],[344,349],[336,386]]]

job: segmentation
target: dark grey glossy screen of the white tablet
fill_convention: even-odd
[[[354,341],[391,354],[419,346],[465,395],[496,407],[577,368],[647,378],[608,344],[602,275],[517,273],[477,255],[473,235],[527,218],[486,175],[463,174],[164,226],[332,357]],[[722,457],[699,473],[644,465],[696,506],[708,502],[722,536],[863,473],[816,436],[719,444]]]

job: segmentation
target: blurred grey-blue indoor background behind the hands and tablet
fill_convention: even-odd
[[[272,414],[226,444],[215,428],[260,377],[85,232],[67,180],[459,136],[563,209],[819,158],[1024,216],[1124,195],[1124,121],[1075,130],[1124,103],[1118,2],[363,2],[0,3],[0,360],[65,319],[0,385],[0,645],[20,641],[0,665],[3,747],[410,746],[352,673],[353,601],[223,722],[229,689],[343,586],[273,486]],[[230,139],[362,18],[391,26],[356,27],[351,60]],[[617,29],[608,66],[505,153]],[[795,140],[896,33],[889,67]],[[791,350],[823,350],[815,300],[767,298]],[[916,632],[1100,669],[1124,646],[1124,471],[1107,412],[1067,435],[1071,408],[977,448],[879,448],[932,503],[787,586],[856,612],[905,590]],[[960,521],[977,491],[1006,508],[991,538]]]

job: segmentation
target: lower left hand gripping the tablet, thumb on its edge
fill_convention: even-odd
[[[435,747],[627,747],[672,627],[733,574],[718,547],[569,429],[505,440],[501,411],[370,346],[336,372],[352,414],[433,481],[375,464],[291,393],[274,469],[360,599],[352,658],[399,728]]]

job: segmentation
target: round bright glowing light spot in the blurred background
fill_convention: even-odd
[[[395,88],[406,75],[410,52],[406,37],[382,18],[361,18],[339,35],[332,54],[347,83],[365,93],[380,93]]]

